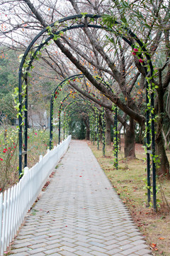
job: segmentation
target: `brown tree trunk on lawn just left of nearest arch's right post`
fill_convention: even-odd
[[[125,158],[135,158],[135,121],[130,118],[130,125],[125,132]]]

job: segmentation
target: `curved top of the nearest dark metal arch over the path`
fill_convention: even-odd
[[[104,16],[104,15],[103,15]],[[94,14],[79,14],[79,15],[75,15],[75,16],[68,16],[65,18],[62,18],[58,21],[55,21],[54,23],[51,23],[49,26],[47,26],[46,28],[43,28],[42,31],[40,31],[40,33],[38,33],[37,36],[35,36],[35,38],[33,39],[33,41],[31,41],[30,45],[28,46],[28,48],[26,49],[23,58],[21,60],[21,65],[19,68],[19,75],[22,75],[22,70],[23,70],[23,65],[26,62],[26,58],[28,56],[28,53],[30,52],[31,48],[33,47],[34,43],[36,43],[38,41],[38,39],[44,35],[47,36],[46,39],[43,38],[43,40],[41,41],[40,45],[35,46],[34,47],[34,52],[31,54],[30,56],[30,60],[28,60],[28,63],[26,65],[26,72],[28,72],[28,70],[30,69],[31,64],[33,63],[33,60],[36,58],[36,56],[40,53],[40,50],[42,48],[44,48],[45,45],[48,44],[48,42],[51,39],[57,40],[58,37],[61,36],[62,33],[75,29],[75,28],[85,28],[85,27],[89,27],[89,28],[101,28],[104,29],[106,31],[109,31],[111,33],[115,33],[117,36],[120,36],[121,38],[123,38],[124,41],[126,41],[131,47],[134,48],[133,43],[128,39],[128,36],[130,36],[131,38],[133,38],[137,44],[142,48],[142,52],[145,54],[147,60],[149,60],[150,62],[150,56],[147,53],[147,49],[145,48],[145,44],[142,43],[142,41],[140,41],[140,39],[135,35],[135,33],[133,33],[130,28],[127,28],[125,26],[123,26],[122,23],[115,21],[115,19],[113,20],[113,24],[115,26],[120,26],[121,28],[123,28],[123,31],[125,31],[125,33],[128,34],[128,36],[123,36],[122,33],[120,33],[120,31],[118,30],[113,30],[112,28],[109,28],[108,26],[101,24],[100,23],[100,18],[102,18],[103,16],[101,15],[94,15]],[[82,18],[84,18],[84,22],[82,21]],[[89,18],[89,20],[88,20]],[[68,24],[65,24],[64,28],[59,29],[60,26],[62,25],[62,23],[64,23],[65,21],[76,21],[76,25],[74,25],[74,23],[72,23],[70,26],[68,26]],[[96,24],[93,24],[94,21],[96,21]],[[99,23],[98,23],[99,21]],[[52,28],[55,28],[55,30]],[[59,29],[59,30],[58,30]],[[46,33],[46,35],[45,35]],[[152,69],[152,62],[149,63],[150,68]]]

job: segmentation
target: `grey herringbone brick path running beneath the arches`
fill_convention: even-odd
[[[91,149],[72,141],[11,253],[147,256],[150,251]]]

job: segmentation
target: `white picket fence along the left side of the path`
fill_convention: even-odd
[[[24,169],[23,177],[15,186],[8,188],[4,195],[0,194],[0,255],[4,255],[47,178],[67,151],[71,139],[69,136],[51,151],[47,150],[35,166]]]

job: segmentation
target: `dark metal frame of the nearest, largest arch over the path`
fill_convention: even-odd
[[[58,21],[58,23],[62,23],[64,21],[70,21],[70,20],[74,20],[74,19],[77,19],[77,18],[96,18],[96,20],[98,18],[101,18],[102,16],[100,15],[93,15],[93,14],[86,14],[85,16],[79,14],[79,15],[75,15],[75,16],[69,16],[69,17],[66,17],[66,18],[62,18]],[[119,23],[118,21],[114,21],[115,22],[115,25],[121,25],[121,23]],[[55,22],[50,24],[50,27],[54,27],[55,26]],[[57,31],[56,33],[54,33],[55,35],[58,35],[61,31],[68,31],[70,29],[75,29],[75,28],[84,28],[84,27],[91,27],[91,28],[102,28],[102,29],[105,29],[106,31],[110,31],[110,32],[114,32],[111,28],[108,28],[107,26],[97,26],[97,25],[90,25],[88,23],[86,24],[79,24],[77,26],[69,26],[67,28],[64,28],[60,31]],[[147,50],[144,46],[144,44],[142,43],[142,41],[140,41],[139,38],[137,38],[137,36],[132,33],[132,31],[130,30],[130,28],[127,28],[127,27],[124,27],[124,30],[128,33],[129,36],[132,36],[132,38],[135,39],[135,41],[140,45],[140,47],[142,48],[142,53],[145,55],[145,57],[147,58],[147,63],[149,64],[149,67],[150,67],[150,74],[149,72],[147,72],[147,69],[146,67],[144,66],[145,68],[145,75],[149,75],[150,77],[152,77],[153,75],[153,66],[152,66],[152,61],[151,61],[151,58],[149,56],[149,54],[147,53]],[[30,43],[30,45],[28,46],[28,48],[26,49],[24,55],[23,55],[23,58],[21,60],[21,65],[20,65],[20,68],[19,68],[19,71],[18,71],[18,77],[19,77],[19,81],[18,81],[18,98],[19,98],[19,113],[21,114],[22,113],[22,75],[23,75],[23,64],[26,60],[26,57],[30,51],[30,48],[33,46],[33,44],[35,43],[35,41],[38,40],[38,38],[40,38],[40,36],[42,36],[43,33],[47,32],[48,31],[48,27],[47,28],[44,28],[42,29],[42,31],[40,33],[38,33],[37,36],[35,36],[35,38],[33,39],[33,41]],[[123,38],[124,41],[126,41],[131,47],[134,47],[134,45],[127,39],[125,38],[123,35],[121,35],[118,31],[116,31],[116,34],[117,36],[121,36]],[[50,35],[47,40],[45,41],[45,43],[47,43],[48,41],[50,41],[52,38],[54,37],[54,35]],[[26,86],[28,85],[28,70],[30,70],[30,65],[31,63],[33,62],[33,59],[35,58],[35,55],[36,53],[38,53],[38,50],[40,50],[44,45],[45,43],[41,43],[40,46],[37,48],[37,50],[35,50],[35,54],[33,54],[33,57],[32,59],[30,60],[30,63],[28,64],[28,68],[26,69],[26,74],[24,76],[24,81],[25,81],[25,84]],[[149,97],[148,97],[148,89],[149,89],[149,85],[148,85],[148,82],[147,82],[147,88],[146,88],[146,102],[148,104],[149,102]],[[26,110],[28,109],[28,95],[27,95],[27,92],[26,92],[26,95],[25,95],[25,98],[26,98],[26,101],[25,101],[25,106],[26,106]],[[151,93],[151,105],[152,107],[154,108],[154,92]],[[156,168],[155,168],[155,163],[154,163],[154,155],[155,155],[155,142],[154,142],[154,137],[155,137],[155,134],[154,134],[154,112],[151,113],[152,115],[152,172],[153,172],[153,198],[154,198],[154,210],[157,210],[157,202],[156,202]],[[25,112],[25,118],[27,118],[27,114]],[[150,143],[150,135],[149,135],[149,110],[147,110],[147,114],[146,114],[146,119],[147,119],[147,145],[149,145]],[[26,165],[26,158],[27,158],[27,127],[26,125],[28,125],[28,121],[27,119],[25,120],[25,132],[24,132],[24,135],[25,135],[25,165]],[[19,174],[21,175],[22,173],[22,116],[19,115]],[[149,147],[147,146],[147,177],[149,178],[150,176],[150,153],[149,153]],[[149,179],[148,179],[148,182],[149,182]],[[149,183],[148,183],[149,185]],[[149,191],[148,191],[149,193]],[[148,196],[148,201],[149,201],[149,196]]]

